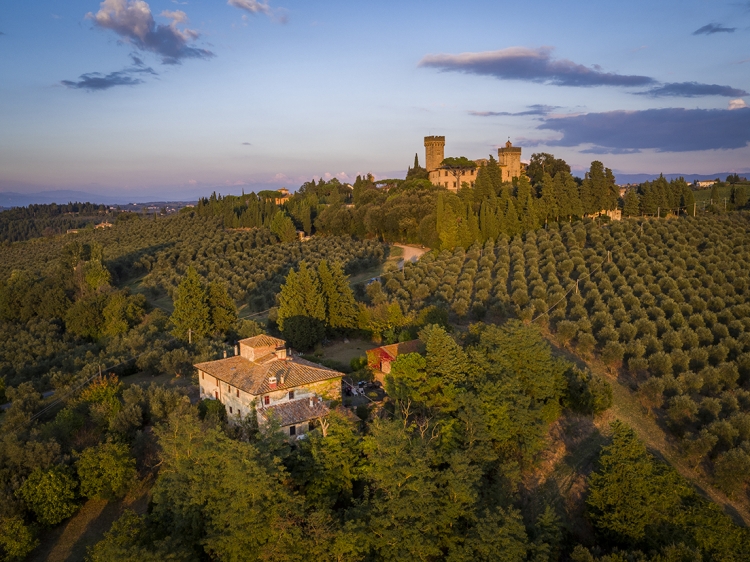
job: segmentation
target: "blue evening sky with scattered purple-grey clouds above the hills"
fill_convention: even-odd
[[[750,0],[0,2],[0,191],[403,177],[423,138],[750,172]]]

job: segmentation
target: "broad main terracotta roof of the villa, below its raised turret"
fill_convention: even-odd
[[[195,367],[256,396],[273,390],[291,389],[344,376],[343,373],[299,357],[287,360],[277,359],[273,353],[259,357],[255,361],[235,355],[218,361],[198,363]],[[269,377],[273,376],[276,377],[275,389],[272,389],[268,382]]]

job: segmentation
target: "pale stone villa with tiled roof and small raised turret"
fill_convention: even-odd
[[[254,408],[259,425],[275,417],[289,436],[306,433],[341,397],[343,373],[293,356],[284,340],[267,335],[240,340],[233,357],[195,368],[200,397],[221,401],[230,420]]]

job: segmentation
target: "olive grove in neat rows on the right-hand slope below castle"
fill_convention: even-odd
[[[433,253],[382,283],[406,310],[534,320],[582,357],[629,370],[686,455],[735,490],[745,477],[729,483],[726,467],[750,467],[747,234],[742,215],[551,225]]]

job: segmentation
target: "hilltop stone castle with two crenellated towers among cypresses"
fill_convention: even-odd
[[[477,178],[479,167],[487,165],[487,159],[482,158],[474,160],[477,167],[472,170],[461,172],[460,183],[452,172],[441,168],[440,164],[445,159],[445,137],[430,136],[424,138],[425,148],[425,165],[430,174],[430,181],[435,185],[441,185],[451,191],[458,191],[461,183],[466,182],[474,187],[474,181]],[[508,141],[504,147],[497,149],[497,163],[500,166],[500,173],[503,181],[512,181],[521,175],[521,148],[513,146]]]

